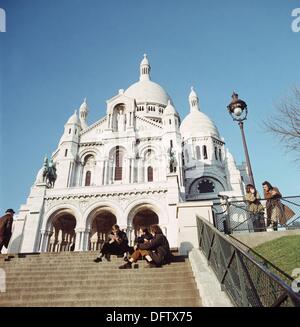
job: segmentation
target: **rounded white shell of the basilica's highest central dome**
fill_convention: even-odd
[[[132,84],[124,94],[134,98],[137,103],[158,103],[166,106],[170,100],[168,93],[151,80],[141,80]]]

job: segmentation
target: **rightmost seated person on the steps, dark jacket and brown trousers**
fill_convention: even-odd
[[[131,269],[132,263],[138,261],[140,257],[145,257],[149,263],[149,268],[161,267],[170,261],[171,251],[167,238],[163,235],[158,225],[151,225],[150,232],[153,239],[144,239],[143,243],[135,245],[135,251],[128,262],[120,266],[119,269]]]

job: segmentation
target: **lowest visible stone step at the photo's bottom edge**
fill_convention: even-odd
[[[99,299],[93,298],[85,300],[41,300],[41,301],[5,301],[1,303],[2,307],[200,307],[201,300],[195,297],[179,297],[179,298],[144,298],[135,297],[130,299],[128,297],[117,299]]]

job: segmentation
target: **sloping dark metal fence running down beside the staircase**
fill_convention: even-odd
[[[197,225],[199,248],[236,306],[300,307],[300,294],[229,236],[199,217]]]

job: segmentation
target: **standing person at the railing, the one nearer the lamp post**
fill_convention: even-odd
[[[264,207],[260,203],[260,196],[252,184],[246,186],[245,199],[248,204],[248,211],[250,211],[250,219],[253,223],[255,232],[262,232],[266,230]]]

